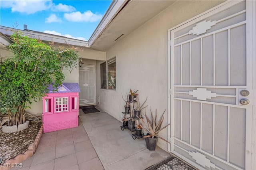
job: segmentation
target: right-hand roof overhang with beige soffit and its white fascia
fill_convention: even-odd
[[[112,4],[89,39],[89,47],[98,51],[108,51],[124,40],[136,29],[156,17],[176,1],[127,0]],[[121,4],[122,2],[122,4]],[[115,8],[116,6],[116,8]],[[119,7],[119,8],[118,8]]]

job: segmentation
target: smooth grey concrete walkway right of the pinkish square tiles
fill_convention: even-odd
[[[158,146],[149,151],[144,138],[134,140],[130,130],[121,130],[120,121],[96,108],[100,112],[80,112],[80,119],[106,170],[144,170],[170,156]]]

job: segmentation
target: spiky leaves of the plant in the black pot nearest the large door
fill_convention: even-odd
[[[166,110],[164,110],[164,113],[165,113]],[[168,127],[170,124],[164,126],[161,128],[162,126],[162,123],[164,121],[164,113],[161,115],[160,119],[158,120],[158,122],[156,121],[157,120],[157,110],[156,110],[156,116],[153,117],[153,114],[152,114],[152,111],[150,109],[150,113],[151,113],[151,120],[148,118],[148,116],[144,113],[144,116],[146,117],[146,122],[142,119],[142,117],[138,117],[140,118],[141,122],[143,125],[141,125],[142,128],[144,128],[148,133],[149,135],[147,136],[143,136],[144,138],[149,138],[149,137],[152,137],[154,138],[154,136],[158,137],[158,138],[161,138],[162,140],[168,142],[168,140],[162,138],[161,136],[158,135],[158,132],[160,132],[161,130],[163,130],[164,128]],[[168,142],[169,143],[169,142]]]

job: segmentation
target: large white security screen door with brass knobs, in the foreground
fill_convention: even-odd
[[[253,10],[226,2],[169,30],[170,151],[199,169],[255,169]]]

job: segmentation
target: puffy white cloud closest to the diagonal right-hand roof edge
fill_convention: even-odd
[[[81,12],[72,12],[70,14],[65,13],[64,18],[70,22],[96,22],[101,20],[101,14],[94,14],[91,11]]]

